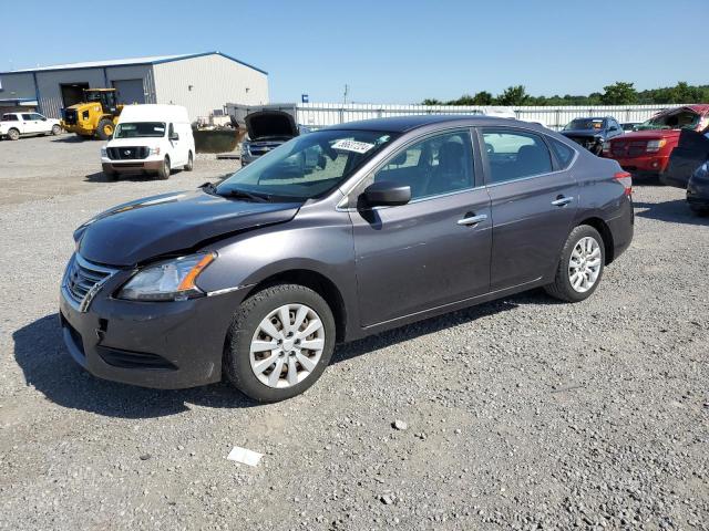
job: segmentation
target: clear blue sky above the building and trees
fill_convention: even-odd
[[[268,71],[271,102],[709,84],[709,0],[0,1],[0,71],[218,50]]]

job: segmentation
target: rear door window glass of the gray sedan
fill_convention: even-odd
[[[532,133],[483,131],[490,166],[489,184],[552,171],[552,157],[544,140]]]

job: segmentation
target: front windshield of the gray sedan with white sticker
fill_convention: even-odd
[[[322,129],[298,136],[239,169],[217,187],[284,200],[306,200],[339,186],[395,135],[378,131]]]

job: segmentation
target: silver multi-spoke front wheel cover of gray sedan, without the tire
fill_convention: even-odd
[[[317,312],[305,304],[285,304],[256,329],[251,371],[268,387],[292,387],[316,369],[323,348],[325,326]]]

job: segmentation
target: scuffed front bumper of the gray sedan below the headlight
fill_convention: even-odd
[[[60,325],[71,357],[100,378],[153,388],[219,382],[234,310],[246,290],[181,302],[96,298],[88,312],[60,295]]]

